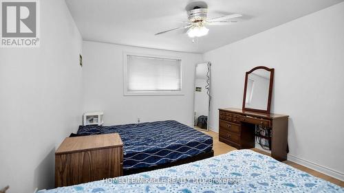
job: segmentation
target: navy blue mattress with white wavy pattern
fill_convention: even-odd
[[[123,170],[147,168],[210,152],[213,138],[173,120],[117,126],[80,126],[78,135],[119,133]]]

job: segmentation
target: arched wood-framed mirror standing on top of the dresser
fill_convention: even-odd
[[[270,113],[274,70],[255,67],[246,72],[243,110]]]

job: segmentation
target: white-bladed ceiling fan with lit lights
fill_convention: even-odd
[[[188,34],[189,37],[201,37],[208,34],[208,28],[206,25],[228,25],[231,23],[235,23],[237,21],[233,21],[231,19],[237,18],[242,16],[241,14],[229,14],[226,16],[219,16],[216,18],[208,19],[208,6],[204,2],[194,2],[190,3],[186,6],[186,9],[189,7],[189,10],[186,10],[189,21],[184,21],[183,27],[176,27],[171,30],[166,30],[163,32],[159,32],[156,35],[164,34],[166,32],[171,32],[174,30],[182,30],[184,29],[184,33]]]

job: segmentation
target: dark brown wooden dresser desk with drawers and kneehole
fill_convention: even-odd
[[[271,129],[271,156],[285,161],[288,153],[288,115],[219,109],[219,141],[237,149],[255,148],[255,125]]]

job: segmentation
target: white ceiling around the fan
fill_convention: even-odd
[[[209,26],[193,43],[186,34],[155,33],[187,21],[186,0],[66,0],[84,40],[204,53],[344,0],[217,0],[208,3],[208,18],[243,14],[233,25]]]

